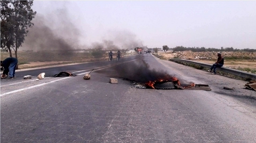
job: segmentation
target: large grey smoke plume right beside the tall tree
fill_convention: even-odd
[[[64,9],[52,15],[37,14],[23,47],[29,50],[72,50],[77,47],[79,30]]]

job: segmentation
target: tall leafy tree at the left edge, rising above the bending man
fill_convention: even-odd
[[[34,25],[31,21],[36,16],[31,8],[33,1],[1,1],[1,48],[10,52],[11,47],[18,59],[17,50],[24,42],[28,27]]]

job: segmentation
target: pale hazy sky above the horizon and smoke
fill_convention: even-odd
[[[32,8],[46,21],[63,13],[48,26],[71,22],[81,45],[129,39],[149,48],[256,49],[256,1],[34,1]],[[65,25],[59,34],[72,35]]]

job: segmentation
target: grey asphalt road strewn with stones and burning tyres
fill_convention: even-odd
[[[52,77],[61,71],[77,76]],[[42,72],[46,78],[36,81]],[[212,91],[138,89],[123,80],[143,82],[157,73],[209,84]],[[151,54],[18,71],[15,79],[1,79],[1,142],[255,143],[255,91],[244,83]]]

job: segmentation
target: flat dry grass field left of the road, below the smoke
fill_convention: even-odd
[[[18,51],[18,65],[19,69],[23,69],[90,61],[105,61],[108,59],[107,54],[108,53],[99,58],[95,58],[91,55],[91,53],[85,52],[75,53],[65,51]],[[12,55],[14,56],[14,53]],[[8,58],[9,56],[9,53],[1,52],[1,61]],[[35,62],[40,62],[40,64],[36,65]]]

